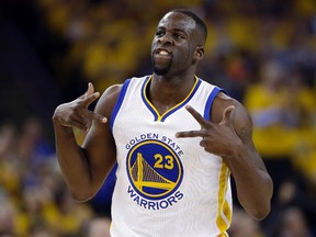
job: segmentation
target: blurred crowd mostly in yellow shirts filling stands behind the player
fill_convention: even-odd
[[[235,196],[229,235],[316,236],[315,0],[16,0],[5,7],[19,12],[7,12],[8,19],[21,23],[65,100],[83,93],[88,81],[102,92],[150,74],[150,43],[161,15],[172,8],[195,11],[208,26],[198,76],[249,110],[255,144],[274,181],[263,222],[246,215]],[[33,24],[25,27],[30,18]],[[71,200],[54,140],[44,136],[53,128],[43,126],[41,114],[22,124],[0,122],[0,236],[106,237],[106,189],[84,204]],[[84,134],[76,134],[81,143]]]

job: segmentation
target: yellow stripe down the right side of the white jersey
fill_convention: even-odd
[[[219,176],[219,190],[218,190],[218,208],[216,224],[222,234],[224,234],[232,222],[232,207],[227,202],[226,192],[228,188],[228,177],[230,171],[225,162],[222,163],[221,176]]]

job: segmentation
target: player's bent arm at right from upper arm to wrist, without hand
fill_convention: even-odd
[[[229,120],[236,134],[233,137],[238,142],[229,143],[230,153],[222,157],[235,179],[239,203],[248,214],[263,219],[271,208],[273,183],[253,145],[251,117],[244,106],[236,104]]]

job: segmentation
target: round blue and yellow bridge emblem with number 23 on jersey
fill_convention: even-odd
[[[127,174],[133,188],[145,199],[160,200],[180,185],[183,168],[180,158],[160,140],[144,140],[127,154]]]

